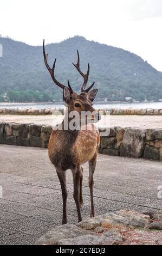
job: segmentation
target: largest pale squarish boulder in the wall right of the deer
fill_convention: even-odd
[[[145,131],[127,129],[120,145],[120,155],[139,158],[145,147]]]

